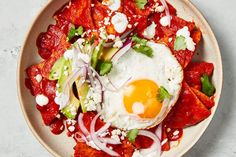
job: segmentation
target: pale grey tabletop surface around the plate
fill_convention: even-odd
[[[171,0],[170,0],[171,1]],[[34,16],[47,0],[0,0],[0,156],[50,157],[24,121],[16,93],[17,54]],[[236,1],[192,0],[212,26],[224,66],[218,111],[184,157],[236,157]]]

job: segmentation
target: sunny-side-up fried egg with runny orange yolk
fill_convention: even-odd
[[[131,48],[103,78],[119,90],[105,90],[102,118],[119,129],[154,127],[178,100],[183,81],[181,65],[165,45],[148,42],[148,46],[153,49],[152,58]],[[158,100],[160,87],[169,92],[170,99]]]

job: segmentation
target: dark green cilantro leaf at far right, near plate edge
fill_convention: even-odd
[[[201,83],[202,83],[202,92],[209,97],[213,96],[215,93],[215,87],[210,82],[210,79],[207,74],[202,75]]]

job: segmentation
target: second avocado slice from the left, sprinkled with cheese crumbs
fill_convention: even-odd
[[[63,90],[63,87],[65,86],[65,82],[66,82],[66,79],[67,79],[67,77],[68,77],[68,75],[65,75],[65,72],[67,72],[68,75],[69,75],[70,73],[72,73],[72,68],[71,68],[71,62],[70,62],[70,60],[66,60],[66,61],[64,62],[64,65],[63,65],[62,69],[61,69],[61,76],[60,76],[60,78],[59,78],[58,81],[57,81],[57,83],[58,83],[58,85],[59,85],[59,86],[57,87],[57,91],[58,91],[59,93],[63,92],[62,90]]]

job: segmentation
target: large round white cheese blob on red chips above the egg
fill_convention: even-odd
[[[111,23],[118,33],[123,33],[126,30],[127,25],[129,24],[127,16],[119,12],[112,16]]]

